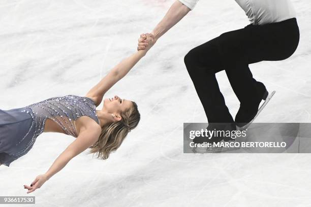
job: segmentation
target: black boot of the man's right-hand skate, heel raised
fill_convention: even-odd
[[[266,100],[268,97],[268,91],[265,85],[261,82],[257,82],[257,99],[252,101],[253,106],[245,106],[240,104],[239,111],[235,116],[236,125],[240,128],[250,123],[258,113],[258,108],[261,100]],[[273,93],[274,94],[274,93]]]

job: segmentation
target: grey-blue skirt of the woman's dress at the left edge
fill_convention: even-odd
[[[33,118],[22,110],[24,108],[0,109],[0,164],[9,166],[27,153],[29,149],[25,149],[32,143],[35,133]]]

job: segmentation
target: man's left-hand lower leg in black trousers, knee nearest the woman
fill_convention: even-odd
[[[225,104],[215,77],[221,69],[221,62],[213,39],[192,49],[184,57],[188,73],[194,83],[209,123],[234,122]]]

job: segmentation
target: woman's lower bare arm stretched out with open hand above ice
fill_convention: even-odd
[[[27,193],[31,193],[40,188],[53,175],[63,169],[72,158],[94,145],[101,131],[102,129],[98,124],[89,126],[87,129],[81,131],[77,139],[55,159],[45,174],[37,176],[30,186],[24,185],[24,188],[28,190]]]

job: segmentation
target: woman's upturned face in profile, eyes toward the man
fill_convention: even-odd
[[[121,99],[119,96],[115,95],[112,98],[104,99],[104,109],[108,113],[118,113],[121,114],[132,107],[132,101],[127,99]]]

